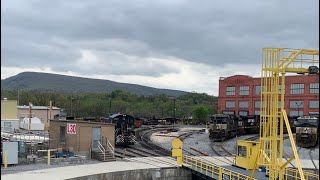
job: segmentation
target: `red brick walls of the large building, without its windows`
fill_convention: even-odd
[[[300,108],[304,115],[310,112],[319,112],[319,108],[309,108],[309,101],[319,100],[319,93],[310,93],[310,83],[319,83],[318,75],[299,75],[286,76],[285,78],[285,109],[289,115],[290,111],[297,111],[297,108],[290,108],[290,101],[304,101],[304,107]],[[255,87],[260,86],[261,79],[253,78],[245,75],[235,75],[219,80],[219,96],[218,96],[218,112],[223,111],[249,111],[249,115],[254,115],[255,111],[260,111],[260,108],[255,108],[255,101],[260,101],[260,95],[256,94]],[[304,94],[290,94],[291,84],[304,84]],[[226,95],[227,87],[234,86],[236,88],[235,95]],[[239,95],[240,86],[249,86],[249,95]],[[227,108],[226,101],[234,101],[235,108]],[[248,108],[240,108],[239,102],[247,101]]]

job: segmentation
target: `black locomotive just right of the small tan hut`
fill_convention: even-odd
[[[101,118],[103,122],[116,124],[116,146],[134,145],[136,142],[134,126],[135,118],[128,114],[112,114],[108,118]]]

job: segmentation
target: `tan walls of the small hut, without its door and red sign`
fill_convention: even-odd
[[[60,141],[60,127],[65,127],[67,124],[76,124],[76,134],[68,134],[66,132],[66,141]],[[100,138],[107,138],[109,142],[115,145],[115,126],[113,124],[85,122],[85,121],[68,121],[68,120],[51,120],[50,122],[50,148],[73,147],[74,152],[89,156],[92,143],[92,128],[101,128]]]

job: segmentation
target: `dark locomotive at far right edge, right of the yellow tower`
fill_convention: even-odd
[[[296,143],[299,147],[314,147],[319,141],[319,117],[297,118]]]

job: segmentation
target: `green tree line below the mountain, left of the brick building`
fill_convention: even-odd
[[[66,94],[44,91],[1,90],[1,99],[18,100],[18,105],[53,106],[69,116],[107,117],[110,113],[124,113],[135,117],[186,119],[205,123],[209,114],[217,113],[217,97],[205,93],[188,93],[179,97],[168,95],[143,96],[116,90],[111,93]]]

